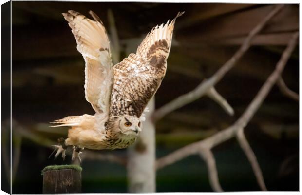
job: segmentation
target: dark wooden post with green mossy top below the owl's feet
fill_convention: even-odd
[[[81,193],[82,168],[78,165],[52,165],[42,170],[43,193]]]

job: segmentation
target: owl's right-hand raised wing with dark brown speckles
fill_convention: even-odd
[[[154,27],[137,48],[113,67],[110,115],[140,117],[166,74],[172,33],[177,16]]]

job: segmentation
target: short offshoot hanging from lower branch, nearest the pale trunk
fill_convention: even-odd
[[[216,161],[213,156],[213,153],[210,150],[201,150],[199,154],[207,163],[208,177],[213,191],[216,192],[224,191],[219,183],[218,172],[216,169]]]

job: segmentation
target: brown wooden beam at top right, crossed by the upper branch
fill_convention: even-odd
[[[176,38],[184,44],[211,44],[225,38],[246,36],[274,7],[267,5],[202,21],[180,30]],[[286,5],[262,33],[298,31],[298,16],[298,5]]]

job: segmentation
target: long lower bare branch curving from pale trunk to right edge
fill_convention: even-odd
[[[156,162],[156,168],[163,168],[187,156],[197,154],[202,149],[211,149],[214,146],[220,144],[221,142],[226,141],[231,137],[234,137],[239,129],[245,128],[246,124],[251,120],[258,108],[261,106],[262,102],[266,98],[272,86],[280,77],[286,62],[288,61],[292,51],[294,50],[297,44],[298,35],[298,32],[294,34],[293,38],[290,40],[286,49],[284,50],[281,59],[278,61],[273,73],[267,78],[264,85],[261,87],[256,97],[248,105],[243,115],[232,126],[202,141],[189,144],[181,149],[170,153],[167,156],[159,158]]]

